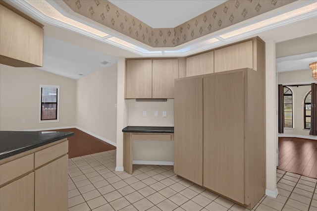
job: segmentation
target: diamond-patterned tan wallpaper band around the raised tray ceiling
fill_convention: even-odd
[[[74,12],[151,47],[176,47],[296,0],[228,0],[175,28],[152,28],[108,0],[63,0]]]

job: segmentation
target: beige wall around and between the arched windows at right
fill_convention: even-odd
[[[312,70],[300,70],[291,72],[281,72],[278,74],[278,84],[294,85],[294,84],[317,83],[312,78]],[[293,128],[284,129],[284,134],[279,136],[305,137],[317,139],[316,136],[309,135],[309,130],[304,129],[304,97],[312,89],[308,86],[289,86],[293,93]]]

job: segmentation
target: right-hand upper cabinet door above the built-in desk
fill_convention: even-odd
[[[154,59],[152,98],[174,98],[174,79],[178,78],[177,59]]]

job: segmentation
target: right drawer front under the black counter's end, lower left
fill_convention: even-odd
[[[46,148],[35,153],[34,167],[37,168],[59,156],[68,153],[68,141],[56,144],[52,147]]]

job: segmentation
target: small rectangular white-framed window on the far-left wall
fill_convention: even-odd
[[[40,122],[58,121],[59,87],[41,85]]]

